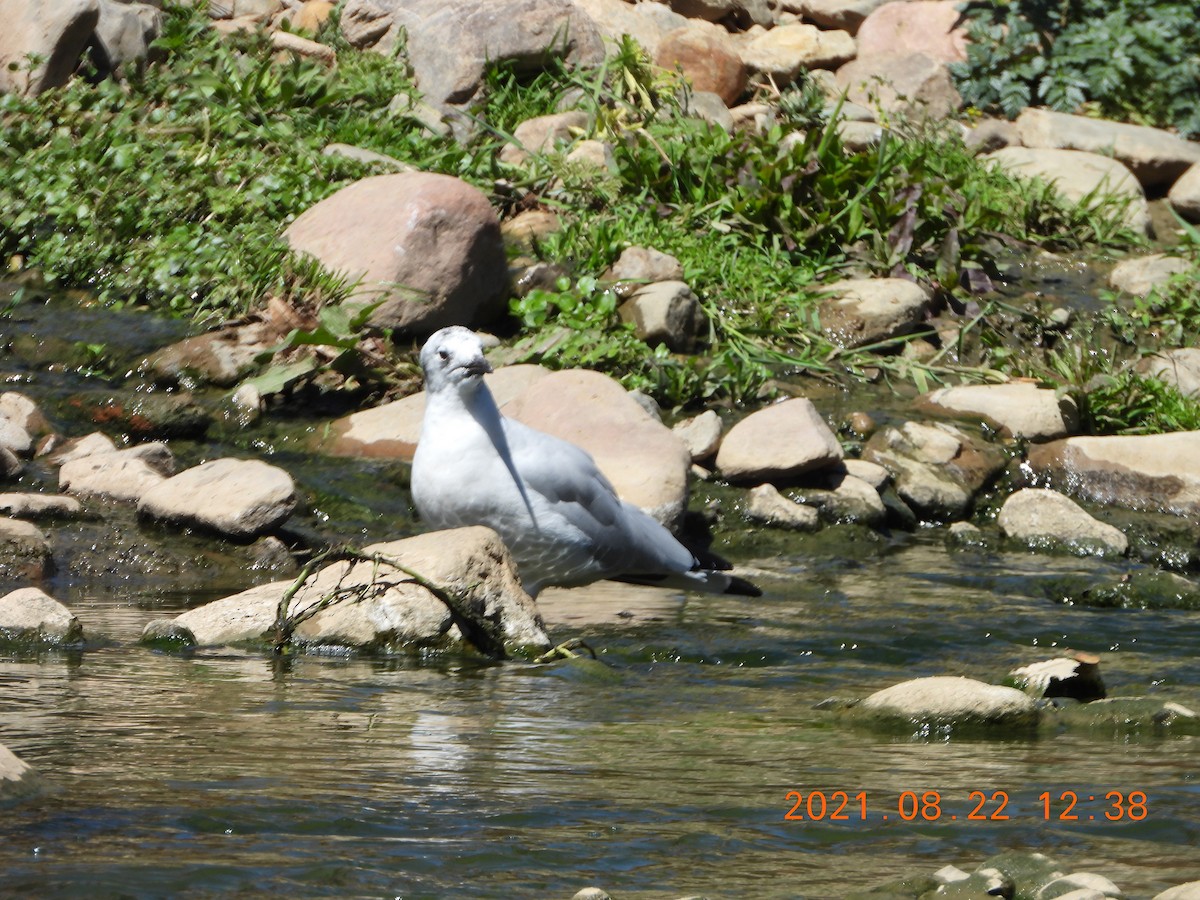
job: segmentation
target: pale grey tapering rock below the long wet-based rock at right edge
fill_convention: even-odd
[[[1118,528],[1092,516],[1066,494],[1027,487],[1008,497],[996,523],[1009,538],[1033,548],[1123,556],[1129,541]]]

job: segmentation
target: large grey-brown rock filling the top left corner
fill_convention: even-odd
[[[74,74],[100,22],[100,0],[0,0],[0,94],[34,96]],[[30,64],[30,58],[38,60]]]

